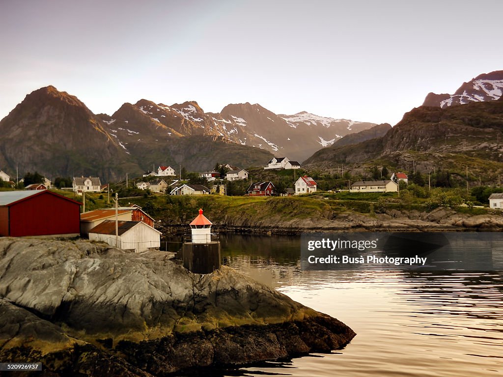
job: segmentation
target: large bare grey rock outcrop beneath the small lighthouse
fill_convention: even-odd
[[[192,274],[169,253],[0,238],[0,258],[0,359],[42,361],[56,375],[165,375],[355,336],[231,268]]]

